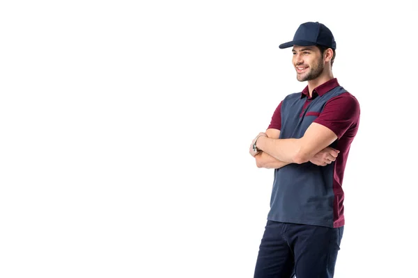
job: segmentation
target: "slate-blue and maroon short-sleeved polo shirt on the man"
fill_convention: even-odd
[[[268,220],[341,227],[344,219],[343,177],[350,145],[359,128],[360,107],[337,79],[319,85],[309,97],[308,87],[287,95],[277,106],[268,129],[279,129],[279,139],[302,138],[316,122],[331,129],[337,139],[336,161],[326,166],[291,163],[274,169]]]

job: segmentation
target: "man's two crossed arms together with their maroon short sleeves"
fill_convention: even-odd
[[[289,163],[302,164],[308,161],[316,165],[327,165],[335,161],[339,151],[328,147],[337,138],[358,124],[359,102],[348,92],[333,97],[321,111],[320,116],[305,131],[302,138],[279,139],[279,129],[268,129],[260,133],[256,146],[258,154],[250,149],[258,167],[283,167]],[[281,104],[274,111],[270,126],[281,126]],[[327,127],[329,126],[329,127]],[[253,140],[254,142],[254,140]],[[252,152],[252,153],[251,153]]]

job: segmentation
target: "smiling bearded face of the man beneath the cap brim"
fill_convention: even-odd
[[[300,47],[295,45],[292,51],[292,62],[295,66],[297,81],[314,80],[323,73],[324,60],[318,47]]]

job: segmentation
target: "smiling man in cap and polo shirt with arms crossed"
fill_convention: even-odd
[[[332,74],[336,42],[318,22],[301,24],[293,65],[302,92],[277,106],[251,142],[258,167],[274,168],[270,212],[254,277],[333,277],[345,224],[343,174],[359,128],[357,99]]]

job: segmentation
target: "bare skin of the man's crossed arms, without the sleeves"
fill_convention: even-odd
[[[290,163],[308,161],[325,166],[335,161],[339,153],[328,147],[336,140],[336,134],[321,124],[311,124],[300,139],[279,139],[279,135],[278,129],[268,129],[261,133],[256,146],[262,152],[251,154],[256,158],[257,167],[281,168]]]

